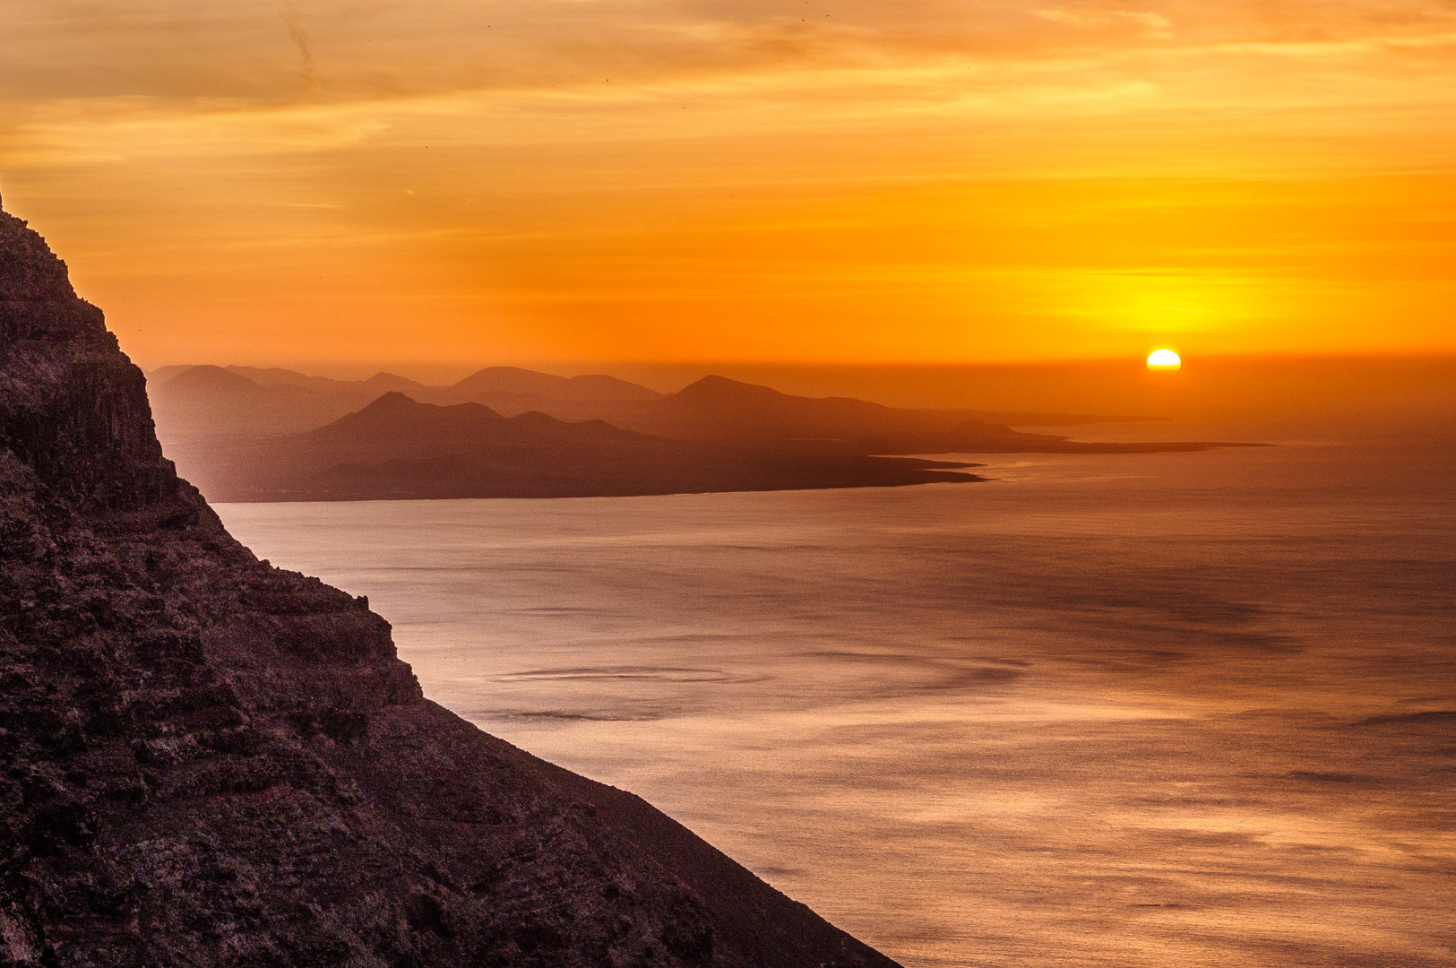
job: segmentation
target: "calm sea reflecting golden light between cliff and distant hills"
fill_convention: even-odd
[[[221,505],[425,693],[907,967],[1456,964],[1456,460]]]

